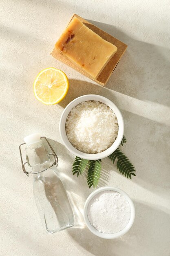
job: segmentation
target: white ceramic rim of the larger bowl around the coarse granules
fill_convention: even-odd
[[[74,108],[77,104],[79,104],[83,101],[100,101],[100,102],[106,104],[107,106],[109,106],[113,110],[113,112],[115,113],[115,115],[117,117],[118,126],[119,126],[117,138],[115,139],[112,146],[110,146],[108,149],[104,150],[101,153],[97,153],[97,154],[83,153],[83,152],[77,150],[70,143],[70,141],[68,140],[68,138],[66,136],[66,119],[67,119],[67,116],[70,113],[72,108]],[[63,113],[60,117],[59,130],[60,130],[60,136],[62,138],[62,141],[63,141],[64,145],[66,146],[66,148],[68,150],[71,151],[71,153],[73,153],[74,155],[77,155],[78,157],[84,158],[84,159],[97,160],[97,159],[102,159],[104,157],[107,157],[108,155],[112,154],[118,148],[118,146],[120,145],[121,140],[124,136],[124,120],[123,120],[123,117],[121,115],[121,112],[119,111],[117,106],[115,106],[115,104],[112,101],[110,101],[109,99],[107,99],[105,97],[102,97],[100,95],[88,94],[88,95],[83,95],[81,97],[78,97],[78,98],[74,99],[73,101],[71,101],[66,106],[66,108],[64,108],[64,111],[63,111]]]

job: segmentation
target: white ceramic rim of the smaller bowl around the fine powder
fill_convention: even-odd
[[[114,234],[104,234],[101,233],[99,231],[97,231],[89,222],[88,217],[87,217],[87,207],[89,202],[92,200],[92,198],[97,195],[98,193],[102,192],[102,191],[108,191],[108,190],[112,190],[112,191],[116,191],[119,192],[120,194],[124,195],[124,197],[128,200],[130,207],[131,207],[131,217],[130,220],[128,222],[128,225],[122,229],[121,231],[114,233]],[[101,238],[106,238],[106,239],[113,239],[113,238],[118,238],[119,236],[123,236],[124,234],[126,234],[129,229],[132,227],[133,222],[135,219],[135,207],[134,204],[132,202],[132,200],[130,199],[130,197],[121,189],[115,188],[115,187],[109,187],[109,186],[105,186],[99,189],[96,189],[95,191],[93,191],[87,198],[85,205],[84,205],[84,220],[86,222],[86,225],[88,227],[88,229],[90,229],[90,231],[95,234],[96,236],[99,236]]]

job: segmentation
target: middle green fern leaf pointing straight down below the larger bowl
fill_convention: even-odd
[[[99,160],[89,160],[88,173],[87,173],[87,184],[89,188],[97,187],[100,178],[100,171],[102,169],[101,159]]]

